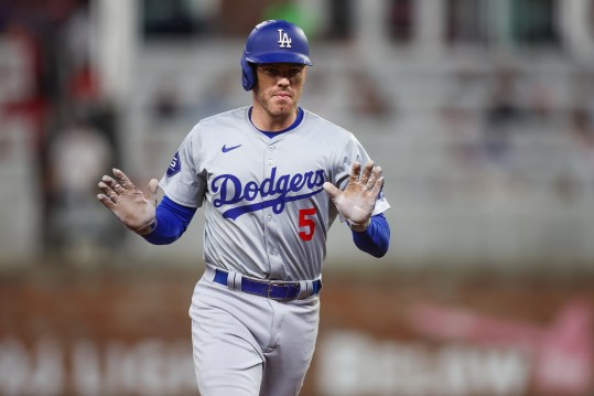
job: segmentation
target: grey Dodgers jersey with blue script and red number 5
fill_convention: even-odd
[[[307,110],[299,126],[272,139],[248,111],[201,120],[160,186],[181,205],[204,205],[208,265],[253,278],[316,279],[337,215],[322,185],[343,190],[353,161],[369,157],[353,133]],[[389,207],[380,194],[374,214]]]

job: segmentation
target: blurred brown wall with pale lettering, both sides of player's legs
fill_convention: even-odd
[[[0,395],[197,395],[198,276],[0,274]],[[592,283],[331,274],[301,395],[591,396]]]

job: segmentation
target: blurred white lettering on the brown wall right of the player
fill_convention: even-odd
[[[335,332],[320,343],[322,395],[522,395],[528,356],[514,349],[378,341]]]

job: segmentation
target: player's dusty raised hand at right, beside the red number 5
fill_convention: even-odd
[[[348,184],[344,191],[338,190],[330,182],[324,183],[324,190],[330,195],[338,213],[347,220],[350,228],[364,232],[369,225],[376,200],[384,185],[381,167],[374,161],[367,162],[361,174],[361,164],[353,162]]]

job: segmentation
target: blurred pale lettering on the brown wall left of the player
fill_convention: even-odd
[[[184,395],[196,389],[190,341],[0,340],[0,395]]]

